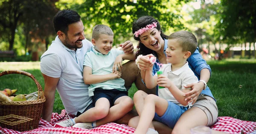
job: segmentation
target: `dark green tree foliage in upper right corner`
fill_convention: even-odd
[[[256,0],[221,0],[222,34],[225,39],[256,41]]]

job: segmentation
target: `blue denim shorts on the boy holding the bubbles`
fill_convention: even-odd
[[[187,110],[185,106],[179,106],[173,102],[168,101],[168,107],[162,117],[159,117],[157,113],[154,115],[154,119],[160,123],[164,123],[169,128],[174,128],[175,124],[179,120],[181,114]]]

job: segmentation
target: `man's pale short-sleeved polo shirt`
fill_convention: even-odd
[[[92,102],[88,96],[88,86],[83,79],[83,60],[93,46],[87,39],[83,47],[76,51],[62,44],[56,36],[49,49],[41,56],[41,72],[49,77],[59,78],[57,91],[68,114],[84,112]]]

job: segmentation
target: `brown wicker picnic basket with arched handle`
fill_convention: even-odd
[[[31,73],[21,70],[3,71],[0,76],[8,74],[21,74],[32,78],[38,88],[38,99],[0,102],[0,126],[16,131],[28,131],[38,128],[45,101],[41,85]]]

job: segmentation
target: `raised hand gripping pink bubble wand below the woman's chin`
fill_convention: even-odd
[[[149,60],[150,57],[154,57],[153,54],[148,54],[146,56],[140,56],[140,59],[138,61],[136,61],[138,67],[141,69],[141,70],[147,70],[147,69],[151,69],[151,61]]]

